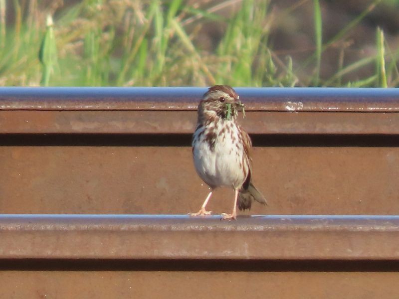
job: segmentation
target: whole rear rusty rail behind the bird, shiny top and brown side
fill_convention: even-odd
[[[180,214],[205,88],[0,88],[1,213]],[[270,199],[254,214],[399,214],[399,90],[238,88]],[[157,171],[154,171],[157,169]],[[210,208],[230,209],[220,191]],[[161,200],[160,200],[161,199]]]

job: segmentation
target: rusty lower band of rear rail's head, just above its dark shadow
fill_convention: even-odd
[[[0,111],[0,134],[192,134],[195,111]],[[249,134],[399,134],[399,113],[248,112]]]

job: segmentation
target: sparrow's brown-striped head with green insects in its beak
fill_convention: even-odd
[[[199,117],[221,117],[223,119],[234,119],[238,110],[244,112],[244,105],[241,103],[235,90],[227,85],[215,85],[208,89],[203,95],[198,107]]]

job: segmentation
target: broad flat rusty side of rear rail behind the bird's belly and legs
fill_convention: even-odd
[[[254,203],[250,213],[398,215],[398,143],[381,139],[257,137],[253,179],[269,205]],[[193,165],[191,136],[13,142],[0,147],[1,213],[187,214],[208,192]],[[216,190],[209,209],[230,211],[232,196],[229,188]]]

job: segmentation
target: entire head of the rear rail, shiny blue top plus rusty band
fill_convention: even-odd
[[[0,134],[191,134],[205,90],[0,88]],[[399,134],[399,114],[390,113],[399,111],[397,89],[237,92],[248,111],[243,124],[250,134]]]

